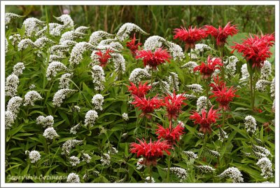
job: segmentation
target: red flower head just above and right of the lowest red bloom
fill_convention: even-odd
[[[176,141],[179,141],[180,135],[183,135],[183,126],[181,126],[181,123],[179,123],[175,128],[172,128],[172,121],[169,123],[169,128],[164,128],[158,124],[158,129],[156,129],[157,132],[155,134],[158,135],[158,138],[163,138],[167,140],[169,145],[176,144]]]

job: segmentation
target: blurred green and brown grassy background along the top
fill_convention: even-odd
[[[115,33],[120,25],[133,22],[146,32],[172,39],[172,30],[181,25],[224,26],[231,21],[240,32],[274,32],[274,6],[6,6],[6,13],[17,13],[50,22],[54,16],[69,13],[76,26],[90,26]],[[15,22],[21,27],[20,20]]]

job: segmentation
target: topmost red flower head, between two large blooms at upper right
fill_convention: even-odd
[[[227,43],[228,36],[233,36],[238,32],[236,25],[230,25],[230,22],[225,27],[219,26],[218,29],[212,25],[205,25],[204,27],[207,34],[214,36],[217,46],[224,46]]]

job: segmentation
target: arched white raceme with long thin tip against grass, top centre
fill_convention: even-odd
[[[127,22],[118,29],[117,37],[120,41],[124,41],[127,37],[130,36],[132,32],[140,32],[141,34],[148,34],[144,32],[138,25],[134,23]]]

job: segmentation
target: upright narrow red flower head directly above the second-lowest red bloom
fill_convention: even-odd
[[[186,100],[186,98],[182,94],[176,95],[175,90],[173,95],[167,95],[167,97],[165,97],[165,103],[163,105],[167,107],[167,116],[169,121],[177,119],[179,114],[182,112],[182,105],[187,105],[183,102],[183,100]]]

